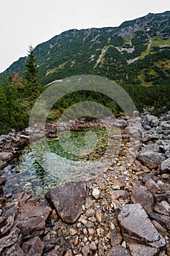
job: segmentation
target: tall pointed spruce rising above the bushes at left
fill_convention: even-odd
[[[26,69],[24,72],[25,78],[25,94],[30,101],[34,101],[41,92],[41,84],[39,83],[38,67],[36,64],[36,57],[34,48],[29,46],[28,57],[26,59]]]

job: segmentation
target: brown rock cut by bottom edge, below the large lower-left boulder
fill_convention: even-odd
[[[39,237],[34,237],[23,243],[22,249],[26,256],[42,256],[44,244]]]

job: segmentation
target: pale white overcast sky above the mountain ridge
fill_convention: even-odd
[[[170,10],[169,0],[1,0],[0,72],[34,47],[68,29],[120,26]]]

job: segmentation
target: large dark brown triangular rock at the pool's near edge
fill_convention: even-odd
[[[56,209],[63,222],[73,223],[80,217],[86,196],[85,181],[75,181],[50,189],[45,198]]]

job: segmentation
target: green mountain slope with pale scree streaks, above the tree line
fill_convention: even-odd
[[[36,46],[45,85],[71,75],[106,76],[118,83],[170,83],[170,12],[148,14],[116,28],[72,29]],[[23,76],[26,58],[5,73]],[[1,74],[2,75],[2,74]]]

